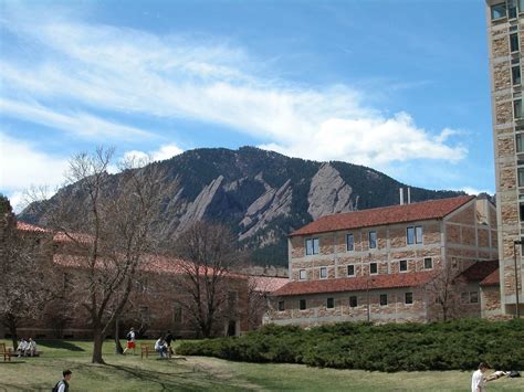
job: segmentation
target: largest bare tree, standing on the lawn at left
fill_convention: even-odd
[[[113,149],[96,149],[70,161],[66,197],[59,198],[51,224],[65,245],[74,275],[75,303],[87,312],[93,330],[93,363],[104,363],[104,337],[113,330],[133,290],[143,256],[151,252],[160,181],[153,182],[136,162],[109,176]],[[144,166],[144,162],[140,162]]]

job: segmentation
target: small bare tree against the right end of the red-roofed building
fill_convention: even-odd
[[[463,290],[463,282],[459,272],[450,263],[436,272],[433,278],[427,284],[431,306],[438,306],[443,321],[460,316],[460,296]]]

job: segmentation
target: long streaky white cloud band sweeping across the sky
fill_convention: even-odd
[[[365,94],[347,86],[307,88],[264,76],[265,70],[231,45],[107,25],[9,22],[4,29],[38,42],[44,53],[30,65],[9,56],[3,61],[6,92],[12,97],[25,92],[85,112],[93,107],[219,124],[264,140],[263,148],[307,159],[387,168],[413,159],[457,162],[468,153],[450,142],[453,129],[429,131],[405,113],[387,117],[366,107]],[[145,136],[97,123],[87,113],[50,116],[34,105],[13,105],[6,112],[60,129],[87,124],[87,134]]]

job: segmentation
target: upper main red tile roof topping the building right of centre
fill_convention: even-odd
[[[442,219],[474,198],[475,197],[473,195],[463,195],[326,215],[294,231],[290,236],[324,233],[336,230],[370,227],[401,222],[423,221],[429,219]]]

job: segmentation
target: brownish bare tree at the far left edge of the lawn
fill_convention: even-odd
[[[20,324],[40,318],[53,297],[55,271],[45,257],[49,237],[49,233],[18,230],[9,200],[0,194],[0,318],[13,349]]]

